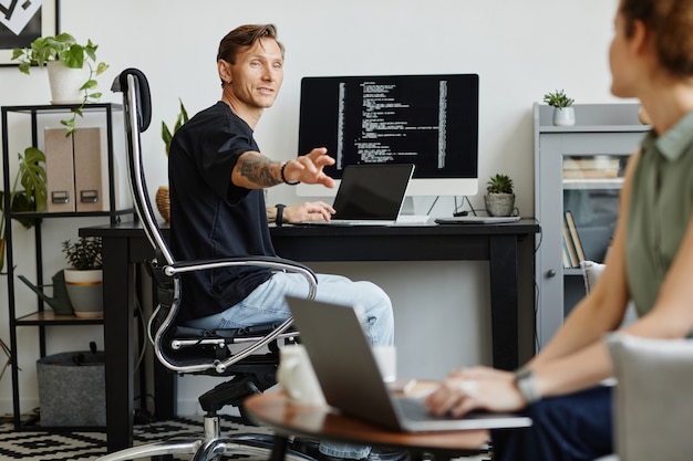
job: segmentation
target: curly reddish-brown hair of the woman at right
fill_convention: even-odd
[[[672,75],[693,75],[693,0],[622,0],[621,13],[630,38],[634,21],[654,33],[661,64]]]

